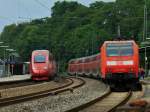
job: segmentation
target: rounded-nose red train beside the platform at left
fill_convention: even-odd
[[[56,75],[56,62],[48,50],[32,52],[30,74],[32,80],[49,80]]]

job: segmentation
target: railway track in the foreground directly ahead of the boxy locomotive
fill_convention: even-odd
[[[111,112],[126,103],[132,92],[108,92],[104,96],[86,104],[70,109],[66,112]]]

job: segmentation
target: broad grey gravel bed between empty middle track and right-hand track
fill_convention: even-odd
[[[0,112],[64,112],[106,92],[107,87],[100,81],[86,79],[86,85],[75,89],[73,93],[49,96],[0,108]]]

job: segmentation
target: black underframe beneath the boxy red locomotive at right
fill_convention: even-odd
[[[120,90],[120,89],[128,89],[128,90],[141,90],[142,86],[139,83],[139,77],[136,77],[135,74],[128,73],[115,73],[115,74],[107,74],[105,79],[102,79],[105,83],[107,83],[111,89]]]

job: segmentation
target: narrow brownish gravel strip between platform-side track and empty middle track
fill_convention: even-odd
[[[31,93],[37,93],[39,91],[46,91],[46,90],[58,88],[60,87],[60,85],[64,86],[67,85],[68,83],[70,83],[70,81],[67,80],[63,81],[62,83],[57,83],[54,81],[43,82],[40,84],[2,89],[0,90],[0,94],[1,94],[1,98],[9,98],[9,97],[21,96],[21,95],[26,95]]]

